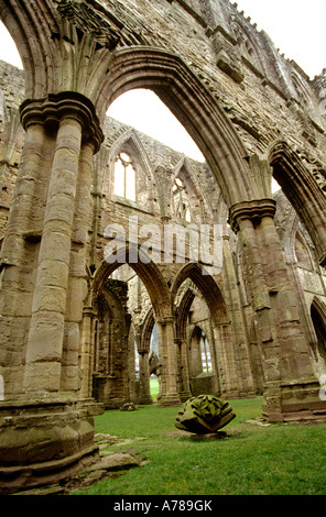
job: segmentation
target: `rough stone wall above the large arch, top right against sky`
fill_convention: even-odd
[[[124,32],[140,29],[134,34],[138,44],[160,42],[181,56],[224,107],[248,153],[264,154],[273,141],[285,139],[307,163],[325,163],[322,79],[311,80],[236,4],[227,0],[98,3],[109,19],[115,14],[124,22]],[[118,48],[127,45],[122,36]]]

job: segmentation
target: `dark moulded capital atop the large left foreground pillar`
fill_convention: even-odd
[[[41,100],[26,99],[20,108],[21,122],[26,130],[31,124],[43,124],[50,133],[56,132],[59,121],[73,118],[80,122],[83,141],[91,142],[95,153],[98,152],[104,134],[93,102],[87,97],[75,91],[50,94]]]

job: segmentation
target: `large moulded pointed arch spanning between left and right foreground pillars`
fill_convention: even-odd
[[[95,99],[99,119],[104,120],[117,97],[137,88],[153,90],[185,127],[215,174],[229,208],[262,197],[248,174],[247,152],[231,121],[178,56],[150,47],[117,51],[110,74]]]

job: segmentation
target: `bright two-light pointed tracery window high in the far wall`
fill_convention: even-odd
[[[120,153],[115,164],[115,194],[135,201],[135,170],[131,157]]]

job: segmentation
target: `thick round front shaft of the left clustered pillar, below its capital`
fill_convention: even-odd
[[[58,124],[48,184],[25,354],[25,392],[59,391],[80,144],[82,123],[67,112]]]

